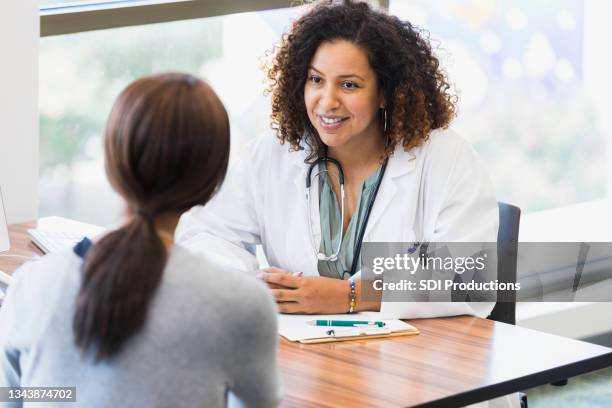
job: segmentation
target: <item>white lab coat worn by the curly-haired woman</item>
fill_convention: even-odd
[[[246,248],[261,244],[271,266],[317,276],[321,231],[312,205],[308,228],[305,151],[289,152],[269,135],[249,143],[219,193],[179,223],[177,242],[206,251],[226,266],[256,271]],[[318,183],[312,183],[313,190]],[[318,196],[311,198],[318,203]],[[456,133],[434,131],[423,146],[397,147],[389,159],[368,221],[365,242],[495,242],[498,208],[493,185],[471,146]],[[383,302],[387,317],[471,314],[493,303]]]

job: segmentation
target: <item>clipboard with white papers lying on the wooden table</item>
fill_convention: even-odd
[[[289,341],[300,343],[327,343],[363,338],[396,337],[419,334],[419,330],[398,319],[380,319],[378,313],[355,313],[342,315],[278,315],[278,332]],[[331,327],[309,324],[314,320],[366,320],[383,321],[384,329],[378,327]],[[333,334],[329,334],[333,330]]]

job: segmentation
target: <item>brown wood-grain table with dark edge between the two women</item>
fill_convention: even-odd
[[[40,254],[9,227],[10,253]],[[0,258],[12,272],[23,259]],[[411,321],[418,336],[280,340],[283,407],[457,407],[612,365],[612,349],[471,316]],[[571,322],[568,322],[571,324]]]

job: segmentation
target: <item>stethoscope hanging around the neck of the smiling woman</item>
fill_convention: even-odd
[[[374,191],[370,196],[370,200],[368,201],[368,206],[366,207],[366,212],[363,216],[363,222],[361,223],[361,228],[359,229],[359,234],[357,235],[357,241],[355,242],[355,249],[353,254],[353,263],[351,265],[350,276],[353,276],[355,272],[357,272],[357,263],[359,259],[359,253],[361,252],[361,245],[363,243],[363,235],[365,234],[366,227],[368,225],[368,219],[370,218],[370,213],[372,212],[372,207],[374,206],[374,202],[376,201],[376,195],[378,194],[378,190],[380,189],[380,184],[382,183],[382,178],[385,175],[385,170],[387,169],[387,162],[389,159],[385,159],[382,167],[380,168],[380,173],[378,174],[378,178],[376,179],[376,184],[374,186]],[[317,248],[317,244],[315,242],[314,234],[312,232],[312,217],[311,217],[311,207],[310,207],[310,187],[311,187],[311,176],[312,171],[318,167],[319,164],[327,164],[330,163],[336,167],[338,170],[338,181],[340,183],[340,241],[338,242],[338,248],[333,251],[331,255],[327,255],[324,252],[320,252]],[[315,177],[319,176],[321,173],[328,173],[327,166],[323,166],[323,169],[318,171],[315,174]],[[308,168],[308,172],[306,174],[306,202],[307,211],[308,211],[308,231],[310,233],[310,240],[312,242],[312,247],[315,250],[317,259],[320,261],[331,261],[334,262],[338,260],[338,255],[340,254],[340,249],[342,248],[342,241],[344,239],[344,171],[342,170],[342,166],[340,162],[336,159],[332,159],[331,157],[322,156],[315,160],[310,167]]]

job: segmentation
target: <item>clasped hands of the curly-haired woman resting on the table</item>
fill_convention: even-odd
[[[302,277],[280,268],[266,268],[258,278],[266,282],[281,313],[337,314],[349,307],[349,284],[320,276]]]

